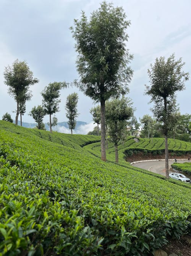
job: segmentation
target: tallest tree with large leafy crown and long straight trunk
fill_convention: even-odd
[[[128,92],[133,71],[128,67],[133,58],[126,48],[126,29],[130,22],[121,7],[113,7],[106,1],[92,12],[90,20],[82,12],[81,20],[74,20],[71,27],[76,40],[77,70],[80,81],[76,86],[100,102],[101,108],[101,159],[105,153],[105,101]]]

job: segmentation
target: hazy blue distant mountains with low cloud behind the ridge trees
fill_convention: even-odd
[[[13,121],[13,123],[15,124],[15,120]],[[77,130],[80,126],[84,126],[86,124],[87,124],[86,122],[77,121],[76,122],[76,129],[74,129],[74,131]],[[19,120],[18,120],[18,125],[19,126],[21,125],[21,122]],[[37,126],[37,124],[36,123],[22,122],[22,126],[27,127],[27,128],[34,128],[34,127]],[[52,130],[54,130],[54,131],[59,130],[60,131],[60,128],[62,128],[62,127],[65,127],[66,129],[69,129],[69,126],[68,126],[67,122],[60,122],[60,123],[57,124],[57,126],[52,127]],[[48,126],[47,123],[45,123],[45,128],[46,128],[46,130],[50,129],[50,127]]]

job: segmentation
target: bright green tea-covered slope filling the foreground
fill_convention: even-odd
[[[0,121],[0,255],[151,255],[189,231],[189,187],[102,162],[96,140]]]

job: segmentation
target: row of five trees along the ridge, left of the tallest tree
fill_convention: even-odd
[[[29,101],[32,97],[32,93],[29,90],[29,86],[35,83],[38,83],[37,78],[33,78],[33,73],[29,69],[26,61],[16,61],[13,62],[12,66],[7,66],[4,72],[5,84],[8,85],[8,93],[15,99],[17,108],[16,108],[16,119],[15,124],[18,124],[18,116],[21,117],[21,126],[22,126],[22,115],[26,112],[26,101]],[[58,104],[60,103],[60,90],[67,88],[68,84],[66,82],[54,82],[49,83],[48,86],[44,88],[41,92],[42,95],[42,106],[34,106],[29,113],[30,116],[34,118],[37,122],[38,129],[45,129],[43,123],[43,118],[45,115],[49,115],[49,126],[50,132],[52,132],[52,126],[57,125],[57,118],[52,115],[59,111]],[[78,116],[77,112],[78,104],[78,94],[74,92],[70,94],[66,99],[66,117],[68,118],[68,125],[71,130],[76,127],[76,117]],[[9,120],[9,114],[6,113],[3,116],[3,120]]]

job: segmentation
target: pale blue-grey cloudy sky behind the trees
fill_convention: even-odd
[[[39,83],[30,87],[32,99],[26,104],[23,122],[32,122],[29,116],[32,107],[42,104],[40,92],[54,81],[72,82],[78,79],[76,71],[75,41],[69,29],[74,19],[80,19],[81,11],[90,17],[100,7],[96,0],[0,0],[0,119],[8,112],[15,119],[16,102],[8,95],[4,83],[5,67],[12,63],[26,61]],[[107,1],[111,2],[111,1]],[[127,29],[126,43],[134,58],[130,63],[133,78],[129,84],[129,97],[136,108],[134,115],[152,116],[150,97],[144,95],[145,84],[149,85],[147,69],[160,56],[175,58],[185,62],[183,70],[191,73],[191,1],[190,0],[113,0],[114,7],[123,7],[126,19],[131,21]],[[181,114],[191,114],[191,79],[185,83],[186,89],[178,92],[177,103]],[[66,97],[77,92],[78,121],[87,122],[86,132],[92,130],[90,109],[95,106],[91,98],[75,87],[61,91],[58,122],[66,118]],[[49,116],[44,117],[44,122]],[[83,127],[82,127],[83,130]],[[64,131],[66,132],[66,131]],[[84,132],[82,132],[84,133]]]

